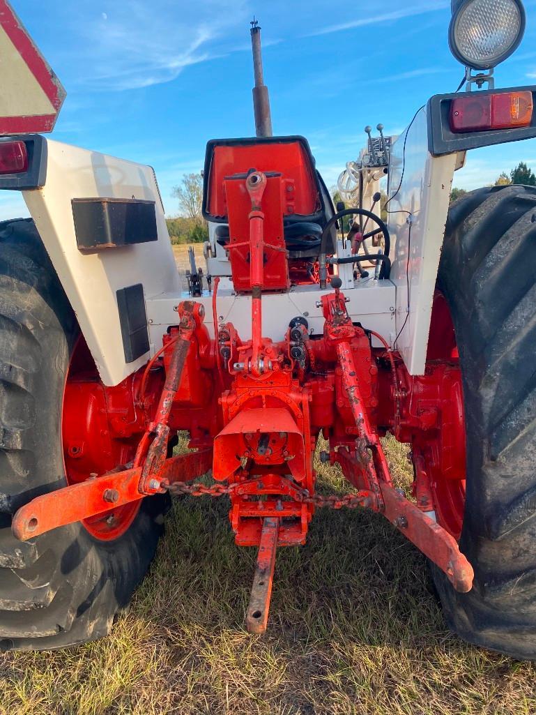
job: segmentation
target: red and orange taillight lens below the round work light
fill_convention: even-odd
[[[469,94],[452,100],[452,132],[528,127],[532,120],[532,92]]]

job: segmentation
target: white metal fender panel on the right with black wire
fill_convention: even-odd
[[[392,145],[390,161],[392,199],[387,209],[391,280],[397,286],[396,347],[410,375],[422,375],[457,154],[432,157],[426,109],[421,109],[410,129]]]

